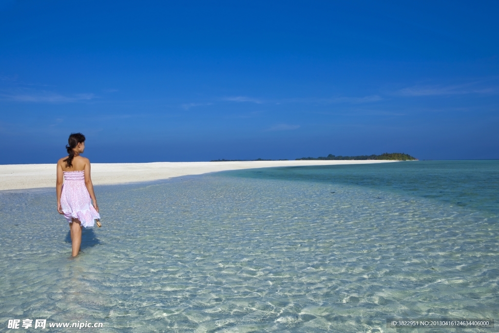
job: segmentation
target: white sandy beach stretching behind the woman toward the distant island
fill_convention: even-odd
[[[92,163],[92,183],[126,184],[186,175],[278,166],[390,163],[395,161],[248,161],[248,162],[154,162]],[[56,164],[0,165],[0,191],[42,187],[55,188]]]

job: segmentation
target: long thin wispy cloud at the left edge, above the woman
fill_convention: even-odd
[[[16,91],[0,93],[0,98],[15,102],[32,102],[32,103],[74,103],[96,98],[92,93],[61,95],[51,91]]]

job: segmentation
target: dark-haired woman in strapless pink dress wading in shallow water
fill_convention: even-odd
[[[100,219],[100,216],[90,179],[90,161],[80,156],[85,150],[85,136],[71,133],[66,149],[69,155],[57,162],[57,211],[69,222],[72,256],[76,257],[83,227],[93,227],[94,219]]]

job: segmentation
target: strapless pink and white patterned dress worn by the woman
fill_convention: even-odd
[[[64,171],[61,208],[69,223],[72,222],[71,219],[78,219],[85,228],[93,227],[94,219],[100,219],[99,213],[91,204],[83,170]]]

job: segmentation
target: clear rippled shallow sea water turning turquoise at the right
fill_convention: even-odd
[[[104,323],[93,332],[395,332],[386,318],[499,317],[499,161],[97,186],[103,227],[83,230],[76,259],[54,192],[0,192],[0,332],[26,318]]]

